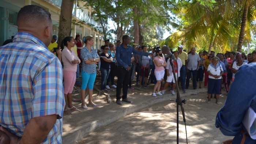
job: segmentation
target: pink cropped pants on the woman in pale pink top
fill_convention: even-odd
[[[63,71],[64,94],[71,94],[76,82],[76,72]]]

